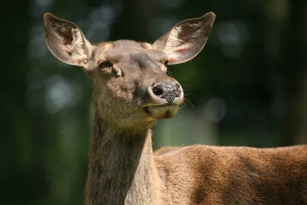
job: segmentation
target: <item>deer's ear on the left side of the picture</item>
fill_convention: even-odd
[[[72,22],[55,17],[51,13],[43,16],[46,43],[52,54],[64,63],[88,68],[93,46],[82,31]]]

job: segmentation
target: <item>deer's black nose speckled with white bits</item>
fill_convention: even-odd
[[[180,97],[180,85],[177,83],[159,84],[153,87],[152,91],[157,97],[165,99],[167,103],[174,103],[175,98]]]

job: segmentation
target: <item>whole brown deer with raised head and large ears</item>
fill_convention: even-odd
[[[152,127],[184,101],[167,66],[204,48],[213,12],[185,19],[153,44],[92,44],[74,23],[43,16],[46,43],[93,79],[87,205],[307,204],[307,146],[193,145],[152,149]]]

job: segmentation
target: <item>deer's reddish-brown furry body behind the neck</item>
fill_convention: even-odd
[[[199,145],[161,152],[155,161],[168,173],[166,204],[307,204],[307,147]]]

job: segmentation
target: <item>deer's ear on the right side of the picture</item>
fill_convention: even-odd
[[[162,49],[168,55],[169,64],[184,63],[204,48],[214,20],[215,14],[212,12],[199,18],[183,20],[153,43],[152,47]]]

